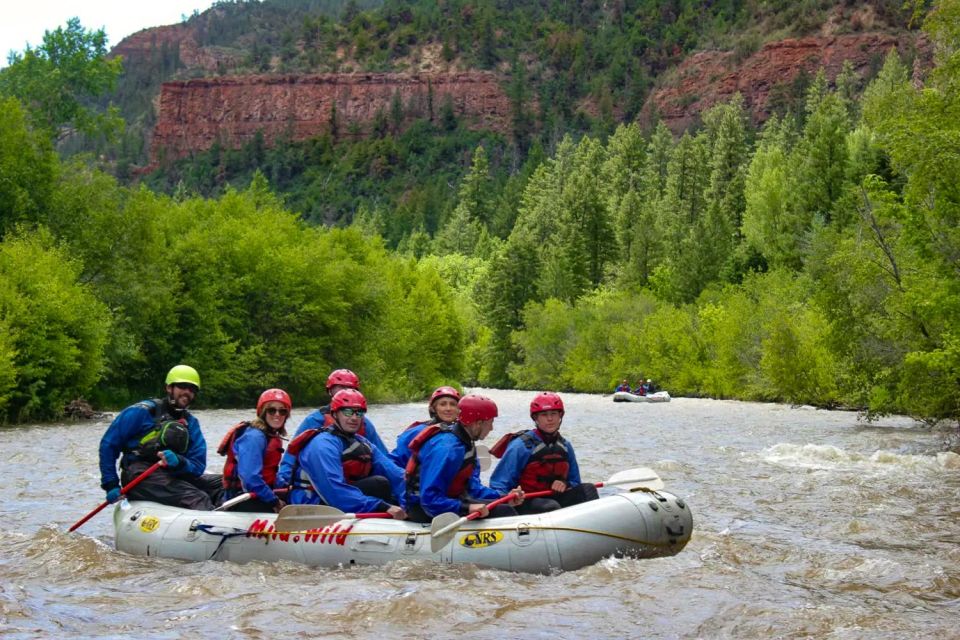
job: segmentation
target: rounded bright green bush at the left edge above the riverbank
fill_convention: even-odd
[[[59,416],[96,384],[110,320],[46,231],[0,243],[0,416]]]

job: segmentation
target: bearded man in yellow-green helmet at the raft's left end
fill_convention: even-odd
[[[180,364],[167,373],[166,396],[143,400],[120,412],[100,439],[100,486],[108,502],[158,460],[163,466],[128,494],[174,507],[209,511],[222,493],[219,475],[204,475],[207,443],[187,407],[200,391],[200,374]],[[120,458],[120,475],[117,475]]]

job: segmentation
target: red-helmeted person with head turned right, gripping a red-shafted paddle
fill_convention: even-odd
[[[523,492],[509,504],[489,510],[487,503],[498,493],[481,482],[476,468],[476,441],[493,430],[497,405],[486,396],[469,394],[458,403],[460,417],[453,424],[433,424],[417,434],[410,443],[407,462],[407,511],[416,522],[430,522],[441,513],[460,516],[480,512],[481,518],[517,515],[515,506],[523,502]]]

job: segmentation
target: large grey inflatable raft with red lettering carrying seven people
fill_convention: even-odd
[[[340,514],[322,527],[279,531],[277,518],[121,502],[114,511],[116,547],[133,555],[191,561],[288,560],[336,567],[421,559],[546,573],[579,569],[607,556],[671,556],[683,549],[693,529],[682,499],[649,489],[551,513],[473,520],[448,534],[449,542],[436,551],[430,524]],[[281,524],[292,521],[281,518]]]

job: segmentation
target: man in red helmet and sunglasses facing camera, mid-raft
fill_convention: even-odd
[[[290,442],[294,456],[291,504],[326,504],[354,513],[387,512],[407,517],[403,470],[389,455],[358,435],[367,400],[356,389],[333,396],[333,424],[307,429]]]

